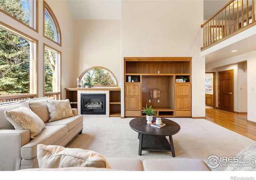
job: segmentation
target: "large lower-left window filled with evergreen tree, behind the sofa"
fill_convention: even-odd
[[[0,27],[0,94],[32,93],[33,42]]]

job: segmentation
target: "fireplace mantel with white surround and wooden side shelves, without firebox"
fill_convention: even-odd
[[[70,100],[72,108],[77,108],[81,114],[81,94],[106,94],[106,115],[83,115],[84,117],[121,117],[121,89],[117,87],[95,88],[65,88],[66,99]]]

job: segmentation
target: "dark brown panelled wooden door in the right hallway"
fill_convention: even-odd
[[[234,70],[218,72],[219,77],[219,109],[234,111]]]

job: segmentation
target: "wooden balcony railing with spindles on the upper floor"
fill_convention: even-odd
[[[202,50],[220,40],[231,37],[235,32],[245,30],[256,24],[254,0],[232,0],[201,25],[204,31]]]

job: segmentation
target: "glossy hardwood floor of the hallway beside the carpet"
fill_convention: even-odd
[[[247,114],[232,113],[216,108],[205,109],[206,120],[256,140],[256,124],[247,122]]]

